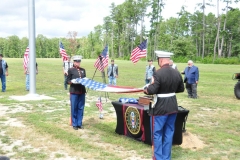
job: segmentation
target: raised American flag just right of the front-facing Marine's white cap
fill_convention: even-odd
[[[108,46],[106,45],[101,55],[99,55],[98,59],[96,60],[94,67],[102,72],[104,71],[104,68],[107,66],[108,66]]]

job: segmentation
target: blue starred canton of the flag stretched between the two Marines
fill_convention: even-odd
[[[103,88],[107,87],[107,85],[104,83],[99,83],[99,82],[93,81],[91,79],[85,79],[85,78],[77,78],[76,82],[81,83],[85,87],[90,88],[92,90],[103,89]]]

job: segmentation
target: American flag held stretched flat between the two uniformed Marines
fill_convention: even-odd
[[[133,93],[133,92],[142,92],[143,88],[133,88],[125,86],[113,86],[105,83],[96,82],[89,78],[77,78],[71,81],[75,84],[82,84],[85,87],[102,92],[115,92],[115,93]]]

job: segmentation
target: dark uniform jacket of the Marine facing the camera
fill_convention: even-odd
[[[82,84],[71,83],[72,79],[84,78],[86,77],[86,71],[84,68],[72,67],[68,70],[67,82],[70,84],[69,92],[73,94],[84,94],[86,93],[86,88]]]

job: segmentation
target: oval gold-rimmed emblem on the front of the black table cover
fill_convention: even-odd
[[[128,130],[136,135],[140,132],[140,113],[135,107],[128,107],[125,112],[125,122]]]

